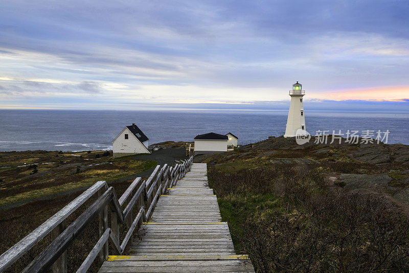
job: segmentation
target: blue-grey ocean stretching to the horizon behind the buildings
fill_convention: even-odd
[[[286,111],[0,110],[0,151],[109,150],[127,125],[137,124],[149,144],[193,141],[197,134],[238,135],[240,142],[283,135]],[[409,145],[409,114],[306,111],[307,131],[389,130],[388,143]],[[382,134],[384,136],[384,133]]]

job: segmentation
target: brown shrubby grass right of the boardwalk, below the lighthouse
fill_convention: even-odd
[[[248,254],[257,272],[409,271],[408,217],[376,195],[326,182],[329,173],[388,173],[390,186],[403,187],[407,168],[356,162],[344,149],[313,151],[247,149],[206,159],[236,253]],[[319,163],[270,164],[272,158]]]

